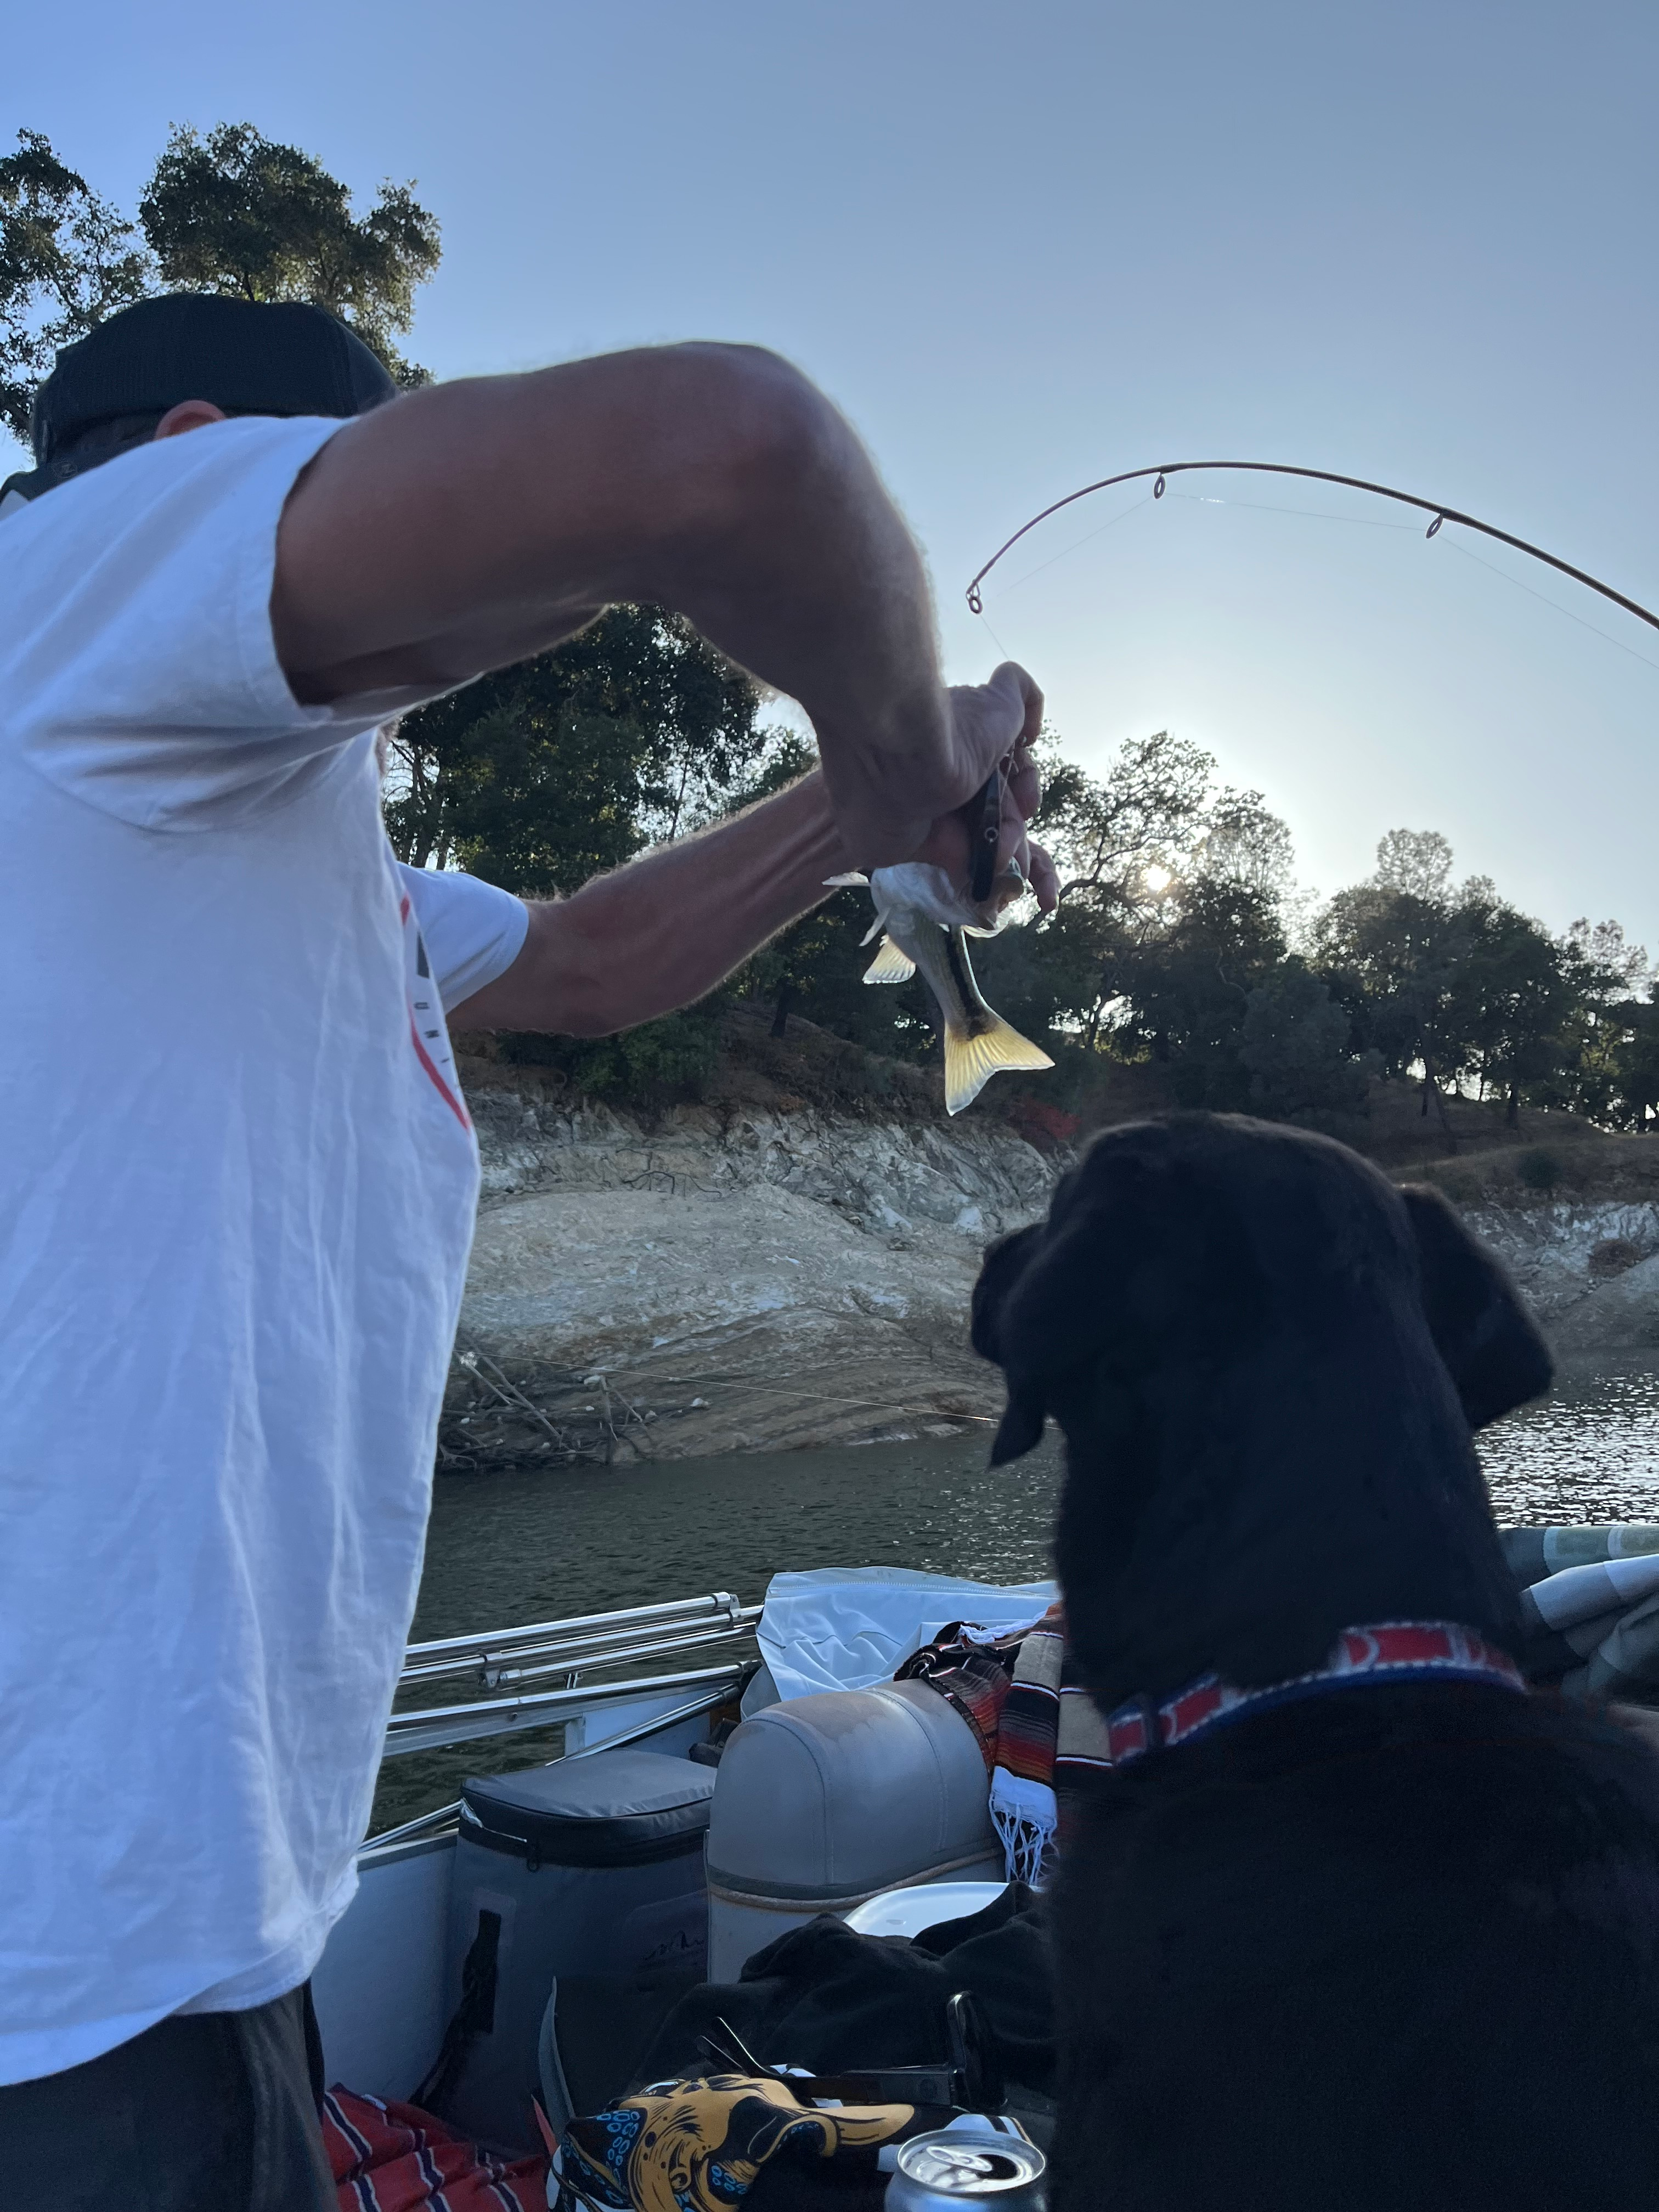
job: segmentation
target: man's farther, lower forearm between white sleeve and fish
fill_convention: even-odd
[[[602,1037],[672,1013],[816,907],[825,876],[847,867],[823,776],[803,776],[730,823],[533,905],[513,967],[451,1022]]]

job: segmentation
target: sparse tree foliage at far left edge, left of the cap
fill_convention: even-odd
[[[35,385],[58,347],[153,285],[133,223],[40,131],[20,131],[0,157],[0,420],[13,438],[29,442]]]

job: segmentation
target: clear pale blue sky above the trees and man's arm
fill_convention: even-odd
[[[1416,491],[1659,608],[1659,11],[1531,0],[285,0],[7,27],[9,122],[117,204],[252,122],[445,234],[438,376],[743,338],[920,538],[951,681],[1006,655],[1099,772],[1170,728],[1323,891],[1394,825],[1659,953],[1659,630],[1360,495]],[[7,119],[7,117],[0,117]],[[1221,502],[1221,504],[1214,504]],[[1604,635],[1597,635],[1604,633]]]

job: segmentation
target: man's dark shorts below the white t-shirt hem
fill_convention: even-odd
[[[310,1989],[250,2013],[175,2013],[0,2088],[0,2163],[18,2203],[51,2212],[338,2212],[321,2095]]]

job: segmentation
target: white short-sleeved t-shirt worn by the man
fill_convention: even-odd
[[[478,1192],[456,1004],[524,907],[400,869],[294,703],[323,420],[0,520],[0,2084],[314,1966],[414,1610]]]

